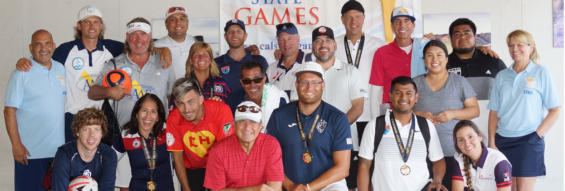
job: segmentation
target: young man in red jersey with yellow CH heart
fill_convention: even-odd
[[[228,105],[204,100],[197,83],[180,78],[173,85],[177,109],[167,118],[167,150],[173,154],[182,190],[204,191],[210,147],[232,134],[233,117]]]

